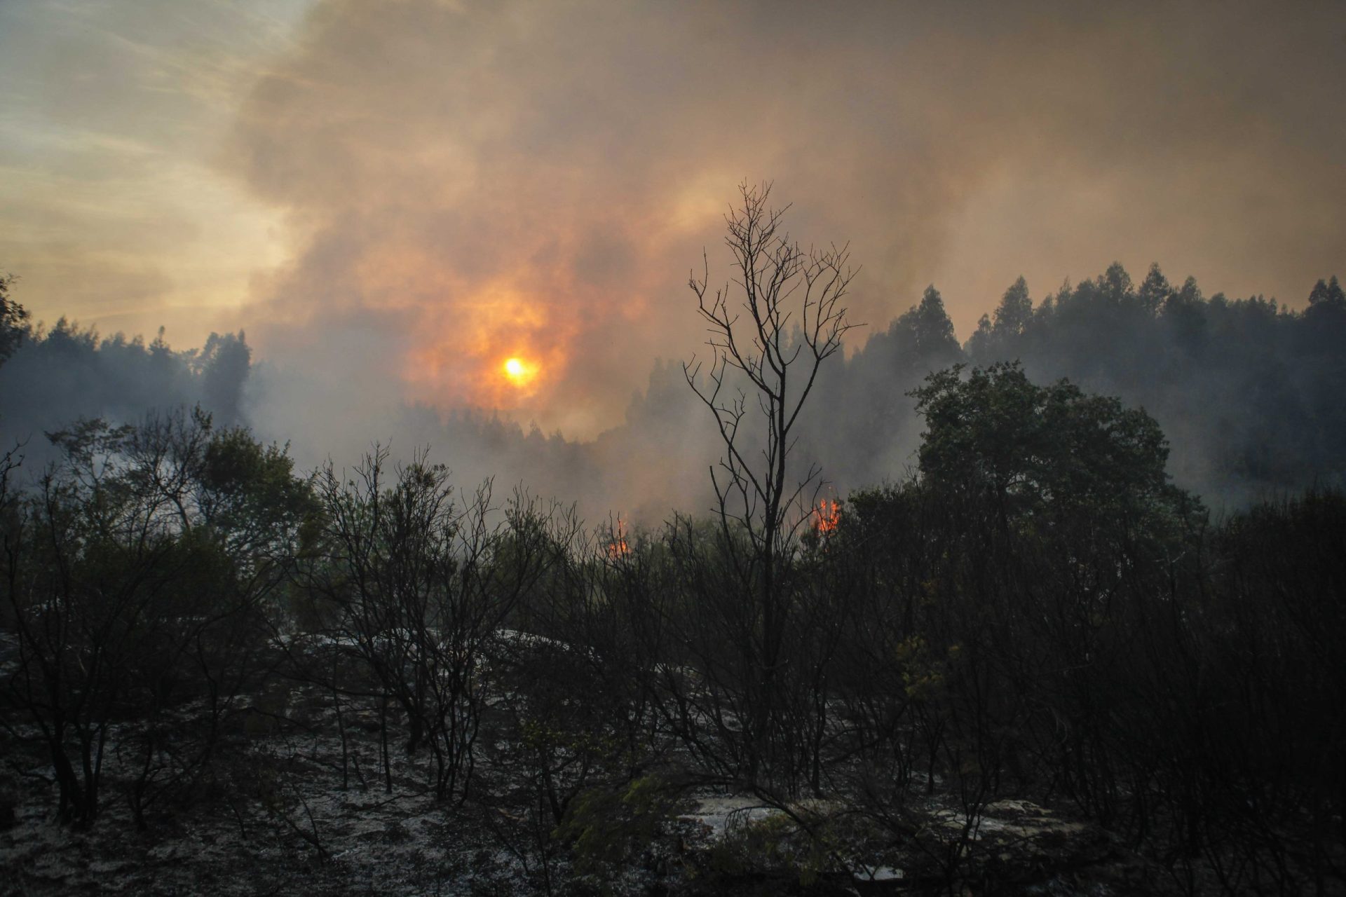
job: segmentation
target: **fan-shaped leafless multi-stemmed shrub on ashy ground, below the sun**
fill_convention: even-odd
[[[486,710],[486,654],[514,608],[564,562],[577,523],[522,491],[495,508],[490,480],[455,500],[448,469],[427,452],[389,477],[388,456],[376,445],[349,476],[331,463],[319,471],[323,549],[300,584],[332,613],[323,627],[331,643],[374,680],[376,694],[365,697],[382,705],[385,788],[393,787],[392,702],[406,718],[408,754],[429,749],[436,796],[463,800]],[[299,662],[304,678],[324,680]],[[324,685],[338,691],[335,680]]]

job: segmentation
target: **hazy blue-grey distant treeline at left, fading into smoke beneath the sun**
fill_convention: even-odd
[[[102,420],[114,426],[137,425],[147,416],[166,416],[201,407],[217,426],[248,425],[258,429],[261,417],[275,425],[292,417],[293,403],[304,399],[300,389],[276,389],[287,377],[275,366],[253,364],[252,347],[242,331],[211,334],[201,348],[172,348],[160,329],[148,343],[118,332],[101,336],[65,317],[55,325],[34,325],[28,312],[9,292],[13,278],[0,277],[0,451],[22,445],[27,469],[40,469],[59,460],[47,433],[77,420]],[[5,360],[8,359],[8,360]],[[281,393],[281,398],[271,395]],[[281,407],[288,405],[289,407]],[[327,444],[332,432],[392,432],[400,449],[435,444],[454,448],[460,472],[487,475],[505,471],[513,479],[529,475],[537,488],[555,494],[602,491],[602,473],[594,452],[546,436],[536,425],[522,428],[499,414],[481,409],[448,413],[423,405],[384,407],[373,418],[369,407],[334,409],[357,420],[343,420],[322,434],[284,432],[271,436],[293,438],[306,463],[316,464],[351,445],[363,448],[363,437],[341,445]],[[358,426],[353,426],[358,424]],[[351,449],[353,452],[357,449]]]

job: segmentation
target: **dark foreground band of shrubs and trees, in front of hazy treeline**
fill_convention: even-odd
[[[717,867],[740,877],[1040,884],[980,832],[1027,799],[1112,832],[1145,890],[1339,890],[1346,496],[1210,520],[1154,418],[1012,364],[914,398],[917,475],[795,508],[770,555],[731,520],[591,531],[382,451],[300,477],[203,413],[69,428],[32,490],[4,471],[7,753],[71,824],[205,803],[246,831],[280,799],[229,771],[283,725],[262,695],[306,687],[334,787],[479,814],[541,890],[616,874],[705,787],[789,820]],[[377,777],[347,763],[357,715]]]

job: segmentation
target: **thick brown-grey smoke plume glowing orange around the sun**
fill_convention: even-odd
[[[810,438],[826,463],[870,422],[849,484],[911,460],[919,425],[875,409],[925,360],[872,359],[929,282],[966,336],[1019,274],[1040,295],[1159,260],[1298,305],[1346,258],[1339,4],[316,0],[297,22],[246,90],[229,70],[214,155],[285,222],[240,323],[249,420],[303,464],[431,442],[460,479],[591,511],[704,506],[684,284],[703,247],[728,277],[744,179],[863,264],[852,319],[880,339]]]

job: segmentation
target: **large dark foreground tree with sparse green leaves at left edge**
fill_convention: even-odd
[[[58,818],[98,815],[104,758],[137,757],[136,822],[206,768],[254,682],[265,602],[312,500],[289,459],[199,410],[139,426],[79,421],[36,488],[4,502],[0,574],[17,663],[3,680],[59,788]],[[8,483],[0,483],[7,487]],[[191,718],[171,709],[199,701]]]

